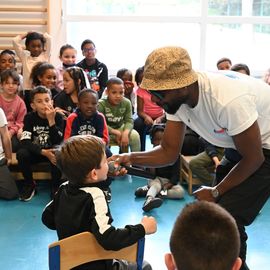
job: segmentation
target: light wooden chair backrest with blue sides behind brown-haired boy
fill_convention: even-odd
[[[105,259],[136,262],[142,270],[144,238],[118,251],[105,250],[90,232],[79,233],[49,245],[49,269],[67,270],[81,264]]]

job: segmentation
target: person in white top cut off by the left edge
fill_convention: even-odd
[[[7,119],[0,108],[0,199],[18,198],[18,189],[8,165],[11,164],[11,141],[7,128]]]

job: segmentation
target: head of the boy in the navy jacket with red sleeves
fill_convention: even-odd
[[[98,95],[95,90],[83,89],[78,95],[78,108],[84,117],[90,117],[97,111]]]

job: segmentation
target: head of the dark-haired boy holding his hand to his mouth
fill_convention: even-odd
[[[35,87],[31,93],[31,108],[42,118],[46,118],[46,110],[53,107],[50,89],[44,86]]]

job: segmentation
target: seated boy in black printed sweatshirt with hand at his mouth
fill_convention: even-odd
[[[43,161],[51,163],[52,192],[60,184],[61,172],[56,167],[55,147],[62,142],[63,119],[55,112],[51,91],[38,86],[31,91],[31,107],[24,118],[21,148],[17,152],[18,165],[24,176],[24,186],[20,200],[29,201],[35,195],[31,165]]]

